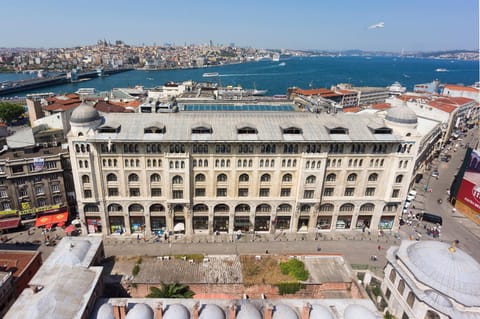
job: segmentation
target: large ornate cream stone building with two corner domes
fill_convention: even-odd
[[[68,137],[84,231],[185,234],[398,227],[417,118],[372,114],[105,114]]]

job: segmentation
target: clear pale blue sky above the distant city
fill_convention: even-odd
[[[479,0],[2,0],[0,47],[479,48]],[[383,28],[368,27],[384,22]]]

